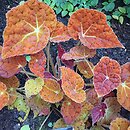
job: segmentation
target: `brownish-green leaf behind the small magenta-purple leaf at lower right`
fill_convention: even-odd
[[[110,125],[111,121],[116,119],[121,110],[120,104],[117,102],[116,97],[108,97],[105,99],[104,103],[107,106],[106,113],[101,119],[101,124]]]

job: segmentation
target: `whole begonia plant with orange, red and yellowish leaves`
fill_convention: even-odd
[[[117,116],[121,107],[130,111],[130,63],[120,66],[106,56],[96,65],[89,60],[96,49],[124,48],[103,13],[79,9],[65,26],[48,5],[28,0],[7,13],[7,23],[0,48],[0,109],[8,106],[24,112],[20,121],[30,110],[34,117],[47,116],[42,126],[56,110],[62,118],[54,128],[129,126],[129,121]],[[70,38],[77,45],[66,52],[61,44]],[[50,54],[52,43],[58,44],[56,59]],[[15,76],[20,73],[25,74],[25,85]],[[116,97],[111,93],[115,89]]]

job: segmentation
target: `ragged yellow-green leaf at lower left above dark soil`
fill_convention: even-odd
[[[8,108],[9,109],[17,108],[18,111],[23,111],[25,113],[24,119],[22,117],[18,117],[20,122],[25,121],[28,117],[29,112],[30,112],[30,107],[27,106],[23,96],[20,94],[18,94],[18,97],[15,100],[15,102],[11,106],[9,106]]]

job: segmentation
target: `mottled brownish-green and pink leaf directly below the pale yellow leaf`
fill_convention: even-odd
[[[34,118],[40,115],[48,115],[50,112],[49,103],[43,101],[39,95],[26,99],[28,106],[34,113]]]

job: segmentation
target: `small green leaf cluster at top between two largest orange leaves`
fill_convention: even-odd
[[[66,15],[71,16],[73,12],[80,8],[96,7],[99,0],[43,0],[56,14],[60,14],[62,17]]]

